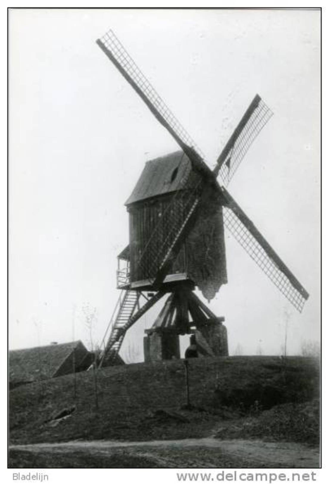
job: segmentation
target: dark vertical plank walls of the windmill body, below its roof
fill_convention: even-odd
[[[180,198],[183,198],[183,193]],[[170,224],[168,206],[173,195],[154,197],[150,200],[135,203],[128,208],[130,218],[130,276],[131,283],[145,281],[156,276],[152,267],[151,254],[160,251],[165,240],[165,227]],[[177,195],[176,195],[177,197]],[[177,199],[179,198],[177,197]],[[181,212],[179,202],[175,210]],[[185,213],[180,213],[182,223]],[[152,247],[147,247],[151,234],[157,224],[162,225],[159,236],[152,238]],[[143,267],[139,258],[146,251],[146,263]],[[194,228],[184,242],[179,255],[173,263],[169,276],[187,274],[203,292],[207,299],[212,299],[222,284],[227,282],[226,257],[224,244],[223,210],[216,200],[210,204],[209,199],[200,207]]]

